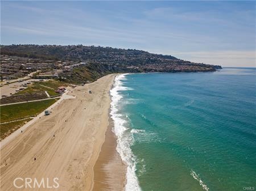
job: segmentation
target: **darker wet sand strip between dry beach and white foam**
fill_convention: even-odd
[[[110,109],[109,109],[110,112]],[[124,191],[126,183],[126,165],[117,152],[117,137],[112,128],[114,122],[109,114],[109,125],[105,132],[105,141],[94,165],[92,191]]]

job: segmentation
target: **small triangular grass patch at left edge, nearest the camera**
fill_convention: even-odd
[[[32,120],[32,118],[27,118],[25,120],[20,120],[20,121],[9,122],[7,124],[1,124],[0,125],[1,139],[4,139],[5,137],[7,137],[11,133],[13,133],[15,130],[19,129],[21,126],[23,126],[30,120]]]

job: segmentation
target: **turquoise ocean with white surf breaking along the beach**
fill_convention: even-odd
[[[126,191],[255,190],[255,74],[118,75],[110,115]]]

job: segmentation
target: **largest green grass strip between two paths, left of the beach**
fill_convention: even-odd
[[[28,102],[22,104],[3,105],[1,109],[1,122],[14,121],[35,116],[44,111],[58,99]]]

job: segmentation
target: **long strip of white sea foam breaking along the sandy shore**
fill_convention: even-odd
[[[113,131],[117,135],[117,151],[119,152],[123,162],[127,165],[126,172],[126,191],[141,191],[139,187],[138,177],[135,173],[136,171],[136,158],[131,151],[130,146],[133,144],[133,136],[127,131],[125,127],[126,120],[122,118],[122,114],[118,113],[118,105],[122,96],[119,91],[132,90],[131,88],[123,86],[121,80],[125,79],[126,74],[121,74],[115,77],[114,86],[110,90],[110,95],[112,96],[111,111],[110,115],[114,121]]]

